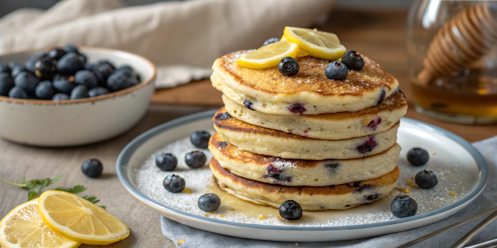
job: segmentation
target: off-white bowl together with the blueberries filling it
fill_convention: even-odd
[[[107,48],[0,56],[0,137],[60,147],[117,136],[147,112],[156,74],[148,59]]]

